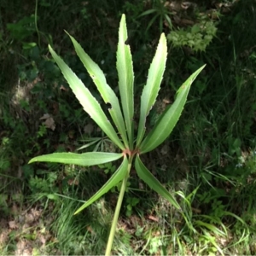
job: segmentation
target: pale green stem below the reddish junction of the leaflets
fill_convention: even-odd
[[[114,211],[114,214],[113,214],[113,222],[112,222],[111,230],[110,230],[110,233],[109,233],[109,236],[108,236],[108,244],[107,244],[105,256],[110,256],[111,255],[111,248],[112,248],[112,245],[113,245],[113,237],[114,237],[114,233],[115,233],[116,226],[117,226],[118,219],[119,219],[120,209],[121,209],[122,202],[123,202],[124,195],[125,195],[126,184],[127,184],[127,180],[128,180],[129,174],[130,174],[130,170],[131,170],[131,162],[132,162],[132,157],[129,158],[129,163],[128,163],[128,167],[127,167],[126,176],[123,179],[122,186],[121,186],[121,189],[120,189],[120,192],[119,192],[119,199],[117,201],[115,211]]]

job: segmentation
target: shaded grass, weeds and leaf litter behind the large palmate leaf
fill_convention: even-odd
[[[131,175],[116,254],[255,254],[255,1],[2,0],[0,3],[0,253],[102,254],[118,187],[73,216],[106,182],[111,164],[28,166],[39,154],[113,151],[68,89],[47,48],[65,56],[96,98],[64,30],[117,88],[115,47],[125,13],[135,97],[165,32],[169,55],[154,125],[198,67],[181,119],[148,167],[172,191],[185,219]],[[137,106],[138,107],[138,106]]]

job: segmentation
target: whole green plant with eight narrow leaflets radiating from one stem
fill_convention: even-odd
[[[34,157],[29,161],[29,163],[37,161],[49,161],[80,166],[95,166],[123,158],[123,161],[118,170],[114,172],[108,182],[102,186],[102,189],[98,190],[95,195],[93,195],[88,201],[84,203],[82,207],[79,207],[79,209],[74,213],[77,214],[81,212],[85,207],[90,206],[90,204],[107,193],[109,189],[112,189],[113,186],[117,185],[119,182],[122,182],[121,189],[119,191],[119,199],[113,216],[113,223],[108,237],[106,255],[109,255],[111,253],[113,236],[116,230],[119,211],[124,198],[133,160],[135,161],[135,169],[137,171],[137,175],[143,179],[143,181],[147,183],[151,189],[154,189],[157,193],[166,198],[166,200],[170,201],[174,207],[180,209],[176,199],[148,171],[147,167],[144,166],[142,160],[140,159],[140,155],[158,147],[160,143],[163,143],[170,135],[173,127],[176,125],[177,120],[182,113],[183,106],[189,93],[190,85],[204,68],[204,66],[193,73],[189,79],[187,79],[186,82],[179,88],[179,90],[177,90],[175,102],[166,108],[166,111],[161,114],[153,129],[148,134],[146,134],[146,119],[160,90],[160,83],[166,67],[166,37],[164,34],[161,34],[154,59],[148,70],[148,80],[144,86],[141,96],[140,119],[137,130],[137,138],[135,140],[133,99],[134,74],[132,68],[130,46],[126,44],[127,29],[125,24],[125,15],[122,15],[120,21],[119,44],[117,49],[119,93],[123,113],[119,106],[119,100],[114,91],[107,84],[105,75],[100,67],[98,67],[96,63],[90,59],[90,56],[84,52],[84,49],[81,48],[81,46],[72,36],[69,35],[69,37],[71,38],[74,48],[79,55],[80,60],[83,62],[84,67],[87,69],[91,79],[93,79],[94,83],[96,84],[97,90],[99,90],[102,99],[106,105],[108,105],[108,112],[110,113],[113,123],[108,120],[106,114],[102,110],[102,107],[96,101],[96,98],[91,95],[90,90],[84,86],[82,81],[76,76],[75,73],[73,73],[69,67],[67,67],[67,64],[62,61],[58,55],[56,55],[55,51],[50,46],[49,51],[55,59],[57,65],[61,68],[65,79],[67,79],[67,82],[72,88],[75,96],[79,99],[79,102],[84,107],[85,112],[89,113],[91,119],[95,120],[96,124],[101,127],[102,131],[106,133],[112,143],[115,144],[122,152],[45,154]],[[116,126],[118,132],[113,128],[113,124]]]

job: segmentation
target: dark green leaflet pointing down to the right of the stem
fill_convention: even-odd
[[[140,177],[144,183],[157,192],[162,197],[166,198],[174,207],[180,209],[175,198],[168,192],[168,190],[159,182],[159,180],[154,177],[154,175],[148,171],[147,167],[143,165],[142,160],[140,160],[139,155],[137,155],[135,160],[135,169],[137,171],[138,177]]]

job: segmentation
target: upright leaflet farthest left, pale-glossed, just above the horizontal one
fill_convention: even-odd
[[[75,73],[67,66],[67,64],[61,60],[61,58],[56,55],[54,49],[49,45],[49,51],[56,63],[61,69],[67,83],[70,85],[73,93],[78,98],[79,102],[83,106],[84,110],[89,113],[90,117],[95,120],[96,124],[102,128],[107,136],[115,143],[119,148],[125,149],[123,143],[121,143],[116,131],[114,131],[113,126],[108,121],[106,114],[103,112],[99,102],[96,98],[91,95],[90,90],[88,90],[82,81],[77,77]]]

